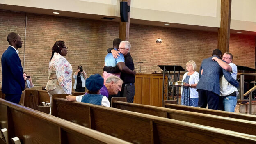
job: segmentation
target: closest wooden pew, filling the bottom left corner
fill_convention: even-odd
[[[18,137],[21,144],[130,144],[96,130],[60,119],[22,105],[0,99],[0,127],[7,128],[11,144]]]

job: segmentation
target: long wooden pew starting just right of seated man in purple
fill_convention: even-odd
[[[119,100],[119,101],[117,101]],[[164,107],[155,107],[151,105],[141,105],[136,103],[127,103],[126,98],[112,98],[112,107],[121,110],[139,112],[143,114],[151,114],[158,117],[165,117],[179,121],[197,123],[204,126],[222,128],[232,130],[239,133],[256,135],[256,121],[248,121],[243,119],[234,119],[221,117],[211,114],[202,114],[197,112],[187,112],[183,110],[175,110]],[[256,117],[256,116],[254,116]]]

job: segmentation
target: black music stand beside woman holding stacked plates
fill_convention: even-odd
[[[169,82],[170,82],[170,71],[174,72],[174,78],[173,81],[171,82],[175,82],[176,81],[176,77],[175,77],[175,72],[178,71],[178,81],[180,80],[180,72],[181,71],[186,71],[185,69],[183,69],[183,67],[181,66],[177,66],[177,65],[173,65],[173,66],[168,66],[168,65],[158,65],[158,67],[160,67],[160,69],[162,69],[163,72],[163,93],[162,93],[162,105],[164,107],[164,96],[167,100],[169,100]],[[167,83],[165,83],[165,74],[167,75]],[[167,85],[167,86],[166,86]],[[165,94],[165,89],[167,89],[167,94]],[[174,85],[172,85],[172,99],[174,100]],[[178,88],[179,90],[179,88]],[[178,97],[177,97],[177,103],[178,103]]]

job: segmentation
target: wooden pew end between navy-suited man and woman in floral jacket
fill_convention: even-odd
[[[36,90],[36,89],[25,89],[24,91],[24,102],[25,107],[30,107],[34,110],[39,110],[49,114],[50,107],[43,106],[42,102],[50,103],[50,96],[47,91]]]

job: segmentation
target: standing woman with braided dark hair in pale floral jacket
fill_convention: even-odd
[[[67,53],[68,47],[64,41],[54,43],[46,84],[51,104],[53,94],[71,94],[72,91],[72,66],[64,57]]]

